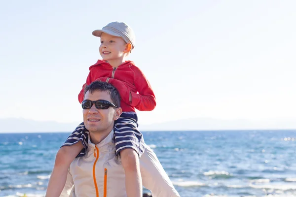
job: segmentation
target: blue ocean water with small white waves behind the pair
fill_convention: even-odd
[[[296,130],[143,134],[181,197],[296,197]],[[0,197],[43,197],[68,135],[0,134]]]

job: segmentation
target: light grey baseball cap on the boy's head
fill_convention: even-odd
[[[136,36],[132,28],[122,22],[112,22],[106,25],[102,30],[93,31],[93,35],[101,37],[102,33],[107,33],[113,36],[122,37],[126,43],[132,44],[132,49],[135,48]]]

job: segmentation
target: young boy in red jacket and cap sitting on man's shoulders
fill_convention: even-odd
[[[103,60],[89,67],[90,72],[78,100],[80,103],[83,101],[84,87],[95,80],[111,83],[119,91],[123,113],[114,124],[116,155],[120,155],[125,171],[127,196],[142,197],[139,158],[145,150],[145,142],[138,131],[135,108],[141,111],[153,110],[155,96],[142,71],[133,62],[125,60],[135,47],[135,35],[128,25],[112,22],[92,34],[101,37],[99,51]],[[58,151],[46,197],[58,197],[61,194],[70,164],[75,157],[85,154],[88,135],[83,130],[84,125],[81,123]]]

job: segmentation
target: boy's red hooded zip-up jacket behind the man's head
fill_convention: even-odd
[[[84,87],[99,80],[111,83],[119,91],[122,111],[135,112],[135,108],[140,111],[151,111],[155,108],[156,101],[152,88],[144,73],[132,61],[112,67],[109,63],[98,60],[95,65],[89,67],[89,70],[86,83],[78,95],[80,103],[84,98]],[[131,102],[129,101],[130,93]]]

